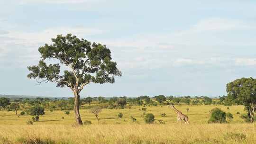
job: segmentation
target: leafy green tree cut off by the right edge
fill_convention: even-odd
[[[241,78],[227,84],[228,99],[245,106],[250,121],[256,112],[256,79]]]

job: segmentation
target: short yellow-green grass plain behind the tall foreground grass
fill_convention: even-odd
[[[230,112],[233,114],[234,119],[231,123],[241,123],[243,120],[239,117],[244,111],[244,106],[229,106],[230,109],[227,109],[227,106],[175,106],[177,109],[181,110],[184,114],[188,115],[191,124],[207,124],[209,120],[209,111],[212,108],[221,108],[225,112]],[[122,121],[122,124],[132,124],[132,119],[130,116],[136,117],[137,122],[144,124],[143,111],[139,110],[144,108],[142,106],[133,106],[130,109],[103,109],[99,114],[101,124],[116,124],[117,122]],[[163,120],[166,124],[174,124],[177,121],[177,115],[174,113],[173,109],[168,106],[151,106],[147,108],[147,113],[152,113],[155,115],[155,119]],[[189,112],[186,111],[186,108],[189,108]],[[239,112],[240,114],[237,114]],[[20,113],[20,111],[18,111]],[[89,120],[92,124],[98,124],[95,116],[91,114],[90,109],[81,109],[80,111],[82,121]],[[118,113],[123,113],[123,118],[118,118]],[[165,113],[166,117],[161,117],[161,113]],[[26,125],[28,119],[31,119],[32,116],[17,116],[13,111],[0,111],[0,125]],[[64,117],[64,119],[62,119]],[[70,115],[64,114],[64,111],[46,111],[46,115],[40,116],[40,121],[34,123],[34,125],[71,125],[74,122],[74,112],[70,111]]]

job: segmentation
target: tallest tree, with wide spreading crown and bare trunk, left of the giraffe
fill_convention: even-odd
[[[50,81],[57,87],[70,88],[74,95],[75,120],[82,125],[79,94],[83,87],[89,83],[114,83],[114,76],[121,76],[121,72],[117,63],[111,61],[110,49],[106,45],[91,44],[71,34],[58,35],[52,38],[52,42],[38,48],[41,60],[38,65],[28,66],[31,73],[27,77],[39,83]],[[46,60],[55,63],[47,64]]]

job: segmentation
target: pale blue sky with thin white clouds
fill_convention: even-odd
[[[72,96],[27,66],[56,35],[110,48],[123,76],[82,96],[219,96],[256,77],[255,0],[1,0],[0,94]]]

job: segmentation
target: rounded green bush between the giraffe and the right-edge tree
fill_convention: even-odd
[[[210,119],[208,123],[226,123],[226,113],[220,108],[213,108],[210,110]]]

